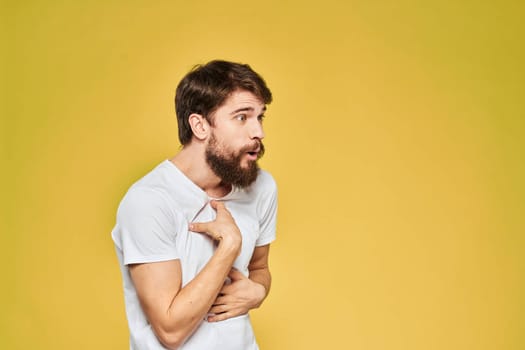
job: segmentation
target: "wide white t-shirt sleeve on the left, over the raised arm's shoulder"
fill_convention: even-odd
[[[161,194],[131,189],[117,213],[124,265],[178,259],[174,221]]]

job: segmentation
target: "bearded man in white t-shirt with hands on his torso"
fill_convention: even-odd
[[[183,147],[129,189],[112,231],[131,349],[258,349],[248,311],[271,282],[277,190],[257,165],[271,100],[238,63],[197,66],[179,83]]]

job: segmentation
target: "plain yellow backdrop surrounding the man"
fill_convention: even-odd
[[[117,205],[213,58],[275,96],[262,349],[525,348],[522,4],[4,1],[0,348],[128,347]]]

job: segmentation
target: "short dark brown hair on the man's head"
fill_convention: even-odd
[[[193,136],[189,116],[200,114],[213,125],[211,114],[235,91],[249,91],[264,104],[272,102],[272,93],[264,79],[249,65],[214,60],[196,65],[182,78],[175,93],[175,111],[182,145]]]

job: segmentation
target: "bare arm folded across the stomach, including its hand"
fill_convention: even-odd
[[[268,268],[270,245],[256,247],[248,270],[249,277],[232,269],[229,277],[231,284],[226,284],[220,290],[219,297],[213,303],[208,321],[222,321],[248,313],[251,309],[258,308],[268,295],[271,285],[271,274]]]

